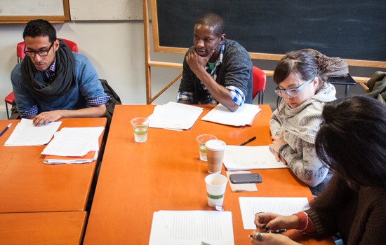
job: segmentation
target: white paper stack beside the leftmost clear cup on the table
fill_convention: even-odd
[[[154,108],[152,115],[148,117],[150,120],[149,127],[189,130],[202,111],[203,108],[176,102],[158,105]]]

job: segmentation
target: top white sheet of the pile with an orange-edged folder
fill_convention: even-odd
[[[41,152],[43,155],[81,157],[99,151],[98,138],[104,127],[64,127]]]

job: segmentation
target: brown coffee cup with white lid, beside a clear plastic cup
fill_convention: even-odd
[[[218,174],[222,169],[224,159],[225,142],[219,139],[206,141],[206,159],[208,161],[208,173]]]

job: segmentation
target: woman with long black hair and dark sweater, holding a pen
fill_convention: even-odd
[[[297,244],[270,230],[296,229],[344,244],[386,244],[386,106],[356,96],[324,106],[317,156],[334,175],[310,209],[292,216],[255,215],[253,244]]]

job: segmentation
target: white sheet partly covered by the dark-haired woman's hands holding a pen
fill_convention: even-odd
[[[291,215],[308,207],[307,197],[239,197],[239,202],[245,230],[256,229],[258,212]]]

